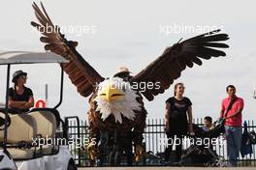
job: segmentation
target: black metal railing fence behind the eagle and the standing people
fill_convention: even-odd
[[[194,123],[198,126],[203,125],[203,119],[195,119]],[[256,131],[256,125],[253,120],[246,121],[248,131]],[[165,151],[165,142],[167,137],[165,133],[165,121],[164,119],[147,119],[146,128],[144,129],[144,144],[147,153],[153,154],[153,156],[163,156]],[[85,154],[82,144],[88,143],[89,131],[86,121],[70,120],[69,121],[69,135],[71,138],[76,139],[75,145],[70,145],[70,151],[75,157],[76,163],[79,166],[89,166],[89,159]],[[224,136],[217,138],[218,143],[214,146],[214,150],[218,156],[223,156],[225,160],[228,160],[226,141]],[[183,150],[191,145],[189,140],[186,140],[183,145]],[[244,157],[240,156],[240,166],[256,166],[255,146],[252,146],[253,154]],[[163,165],[160,161],[145,162],[144,165]]]

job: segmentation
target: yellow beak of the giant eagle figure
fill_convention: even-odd
[[[106,99],[108,102],[113,100],[121,100],[124,98],[124,94],[116,87],[109,85],[100,93],[100,97]]]

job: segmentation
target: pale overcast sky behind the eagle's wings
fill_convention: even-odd
[[[0,6],[0,50],[44,51],[39,34],[30,21],[36,21],[30,0],[3,1]],[[39,1],[36,1],[39,2]],[[68,40],[78,41],[83,58],[102,76],[110,77],[118,67],[133,74],[162,54],[167,46],[221,28],[229,34],[226,57],[204,61],[203,66],[186,69],[175,82],[185,84],[185,96],[193,102],[193,116],[219,115],[225,88],[234,84],[244,99],[243,119],[256,118],[255,80],[255,1],[173,1],[173,0],[44,0],[54,24],[60,25]],[[48,106],[59,99],[60,68],[55,64],[19,65],[12,68],[28,72],[27,86],[35,99]],[[0,101],[5,99],[6,67],[0,67]],[[65,75],[64,99],[59,111],[63,117],[77,115],[87,119],[88,99],[81,97]],[[174,87],[153,101],[144,99],[148,118],[164,118],[165,100]]]

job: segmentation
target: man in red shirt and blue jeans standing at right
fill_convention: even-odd
[[[221,104],[220,118],[225,121],[225,134],[227,139],[227,150],[231,166],[238,166],[241,144],[241,111],[243,99],[236,96],[236,87],[229,85],[226,88],[228,98],[223,99]],[[230,106],[233,101],[232,106]],[[228,109],[228,107],[230,107]]]

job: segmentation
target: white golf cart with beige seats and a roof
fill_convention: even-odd
[[[77,169],[68,149],[68,129],[57,108],[63,95],[63,64],[51,52],[0,51],[0,65],[7,66],[5,107],[0,108],[0,170]],[[57,63],[61,66],[60,100],[53,108],[18,113],[8,108],[10,70],[16,64]]]

